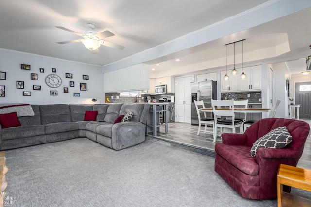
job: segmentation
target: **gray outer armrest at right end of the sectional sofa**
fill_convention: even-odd
[[[120,150],[145,141],[146,125],[140,122],[119,122],[112,127],[112,148]]]

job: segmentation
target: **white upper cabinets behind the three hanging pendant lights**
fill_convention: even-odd
[[[244,67],[246,79],[240,79],[242,68],[237,69],[238,75],[232,75],[231,71],[227,70],[229,80],[224,80],[225,71],[221,71],[221,92],[236,92],[236,91],[260,91],[261,90],[261,65]]]

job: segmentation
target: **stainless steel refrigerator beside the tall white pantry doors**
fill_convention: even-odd
[[[191,83],[191,124],[199,124],[198,114],[195,109],[194,101],[203,100],[206,108],[212,107],[211,99],[217,100],[217,82],[193,82]],[[201,114],[204,117],[204,113]],[[207,117],[212,117],[212,113],[207,113]]]

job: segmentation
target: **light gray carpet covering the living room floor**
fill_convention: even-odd
[[[275,207],[242,198],[214,158],[146,140],[114,151],[87,138],[6,151],[14,207]]]

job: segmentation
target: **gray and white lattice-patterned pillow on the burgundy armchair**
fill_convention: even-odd
[[[284,148],[292,142],[292,136],[286,127],[278,127],[260,137],[251,148],[251,156],[255,157],[259,148]]]

